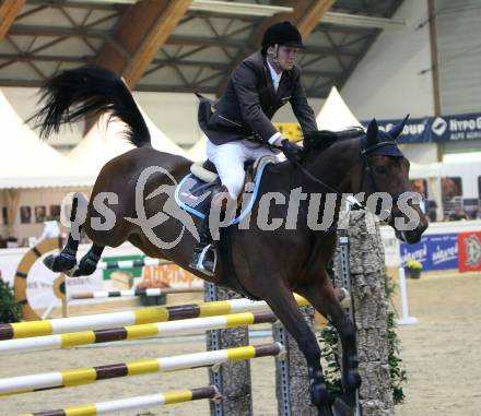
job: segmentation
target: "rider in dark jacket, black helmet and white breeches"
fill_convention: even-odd
[[[207,155],[222,182],[212,204],[224,206],[237,200],[244,187],[246,161],[275,155],[274,150],[282,151],[290,161],[300,158],[302,148],[283,139],[271,122],[285,103],[291,103],[304,134],[317,130],[314,111],[301,85],[301,71],[295,64],[300,49],[304,48],[298,29],[290,22],[271,25],[263,34],[261,50],[233,71],[215,108],[211,109],[211,103],[206,99],[201,103],[199,124],[209,138]],[[212,255],[206,255],[212,242],[209,215],[199,235],[189,266],[212,275],[214,262]]]

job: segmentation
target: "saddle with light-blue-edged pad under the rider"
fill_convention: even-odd
[[[277,162],[277,157],[273,156],[261,156],[257,161],[246,162],[244,166],[246,171],[244,190],[237,201],[238,207],[241,207],[241,204],[244,206],[231,225],[238,224],[250,212],[266,166]],[[184,177],[177,186],[175,200],[183,210],[198,218],[204,218],[209,215],[211,197],[220,187],[221,180],[215,166],[210,161],[195,163],[190,167],[190,174]],[[248,198],[247,203],[243,201],[246,197]]]

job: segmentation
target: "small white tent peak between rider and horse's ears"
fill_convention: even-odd
[[[319,130],[340,131],[352,127],[362,127],[351,112],[336,86],[332,86],[317,117]]]

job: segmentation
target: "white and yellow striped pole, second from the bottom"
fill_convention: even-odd
[[[141,361],[10,377],[0,379],[0,396],[90,384],[99,380],[119,377],[171,372],[259,357],[278,356],[282,350],[283,346],[279,343],[250,345]]]

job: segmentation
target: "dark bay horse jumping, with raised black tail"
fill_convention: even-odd
[[[126,139],[136,146],[105,164],[82,215],[77,212],[81,206],[80,199],[74,199],[68,242],[60,254],[46,262],[47,265],[56,271],[75,268],[77,275],[86,275],[95,270],[104,247],[130,241],[149,257],[171,260],[189,270],[199,219],[175,203],[173,182],[178,183],[189,173],[191,162],[151,146],[145,121],[122,80],[99,68],[67,70],[43,86],[40,100],[43,106],[34,116],[40,128],[40,138],[58,132],[62,123],[109,114],[126,123]],[[266,218],[266,224],[259,224],[259,219],[250,221],[248,227],[242,224],[224,226],[218,241],[220,258],[215,274],[207,276],[191,271],[203,280],[263,299],[269,305],[306,358],[310,399],[319,416],[353,415],[356,389],[361,384],[355,328],[342,310],[328,273],[336,249],[341,195],[364,192],[369,197],[385,192],[392,197],[386,221],[407,242],[419,241],[427,227],[424,214],[412,202],[409,206],[417,214],[418,222],[410,229],[401,229],[398,223],[407,218],[400,195],[411,190],[409,162],[399,155],[391,156],[387,150],[399,152],[396,138],[402,127],[403,122],[383,132],[373,120],[362,136],[326,131],[306,134],[302,159],[267,166],[258,188],[258,195],[262,198],[274,195],[275,202],[269,205],[267,216],[280,219],[285,227],[275,228],[272,226],[274,221],[267,224]],[[309,198],[303,195],[320,195],[319,213],[322,213],[328,193],[336,195],[333,226],[313,229],[308,225],[312,222],[309,215],[313,216]],[[260,197],[253,204],[251,217],[266,217],[265,206],[261,206],[266,204]],[[293,200],[292,204],[285,203],[288,198]],[[294,214],[292,206],[296,207]],[[99,211],[103,211],[101,217]],[[79,216],[81,219],[77,221]],[[113,216],[115,222],[105,227]],[[77,264],[81,229],[93,243]],[[163,243],[156,243],[159,241]],[[344,391],[336,399],[328,395],[320,348],[298,310],[294,290],[328,317],[340,335]]]

